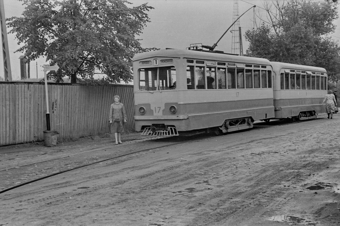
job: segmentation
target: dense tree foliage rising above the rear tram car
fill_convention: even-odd
[[[273,0],[265,9],[267,20],[245,33],[250,42],[246,55],[323,67],[330,79],[340,79],[340,48],[329,36],[335,30],[337,4]]]

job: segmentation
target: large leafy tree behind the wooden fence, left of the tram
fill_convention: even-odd
[[[20,0],[22,17],[7,19],[18,44],[17,52],[30,60],[46,56],[60,69],[49,76],[62,81],[69,76],[93,79],[106,74],[107,82],[132,80],[132,57],[141,48],[139,39],[150,19],[147,3],[129,8],[126,0]]]

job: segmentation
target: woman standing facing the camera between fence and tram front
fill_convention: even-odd
[[[119,102],[119,96],[114,96],[114,103],[110,106],[109,122],[112,124],[111,132],[115,133],[116,144],[122,144],[120,140],[121,132],[124,132],[123,122],[126,123],[125,108],[122,103]]]

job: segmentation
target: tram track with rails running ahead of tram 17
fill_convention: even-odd
[[[153,139],[153,141],[156,142],[150,142],[150,140],[148,140],[131,145],[104,147],[48,159],[45,161],[2,169],[0,170],[0,180],[4,182],[2,185],[5,185],[6,187],[0,185],[0,193],[79,168],[100,164],[102,162],[136,153],[187,143],[201,138],[202,136],[185,140],[177,137],[158,138]],[[117,148],[119,148],[119,150]],[[77,159],[74,159],[75,156]]]

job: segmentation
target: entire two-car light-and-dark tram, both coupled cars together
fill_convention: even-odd
[[[150,136],[219,134],[252,128],[255,120],[311,118],[322,111],[327,86],[321,68],[191,49],[136,54],[133,73],[135,130]]]

